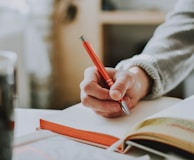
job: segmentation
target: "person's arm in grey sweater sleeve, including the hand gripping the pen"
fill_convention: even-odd
[[[141,55],[106,68],[114,81],[110,90],[95,68],[85,71],[80,84],[82,103],[105,117],[123,115],[142,98],[159,97],[180,83],[194,68],[194,0],[182,0],[168,15]]]

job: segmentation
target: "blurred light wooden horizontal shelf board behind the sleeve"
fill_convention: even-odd
[[[103,25],[158,25],[166,13],[161,11],[102,11],[99,21]]]

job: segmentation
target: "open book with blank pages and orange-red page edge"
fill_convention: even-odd
[[[194,96],[141,101],[119,118],[104,118],[77,104],[42,117],[40,128],[105,148],[124,139],[121,151],[129,140],[152,140],[194,154]]]

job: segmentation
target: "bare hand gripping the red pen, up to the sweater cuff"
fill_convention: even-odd
[[[118,100],[124,98],[129,109],[149,92],[151,80],[139,67],[130,70],[106,68],[114,84],[109,89],[95,67],[85,70],[80,84],[81,102],[104,117],[124,115]]]

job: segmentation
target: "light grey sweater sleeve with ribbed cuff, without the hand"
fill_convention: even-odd
[[[194,1],[180,0],[160,25],[141,55],[116,68],[139,66],[153,80],[147,98],[159,97],[177,86],[194,68]]]

